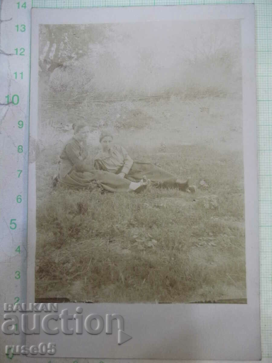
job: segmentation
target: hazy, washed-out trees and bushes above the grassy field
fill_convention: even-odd
[[[67,101],[230,92],[239,22],[185,23],[42,25],[40,78]]]

